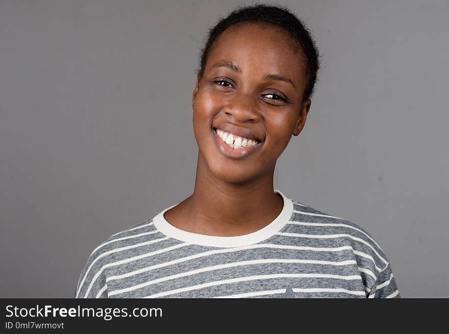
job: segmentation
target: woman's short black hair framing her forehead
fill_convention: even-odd
[[[239,6],[227,17],[220,18],[219,21],[209,29],[206,43],[201,50],[199,59],[199,69],[195,72],[203,78],[207,57],[211,51],[212,44],[217,37],[231,25],[242,22],[262,22],[278,25],[283,28],[291,38],[296,40],[306,54],[306,76],[307,86],[304,91],[303,100],[310,98],[313,94],[317,74],[319,70],[319,52],[311,32],[304,23],[298,19],[290,10],[280,5],[255,4],[252,6]]]

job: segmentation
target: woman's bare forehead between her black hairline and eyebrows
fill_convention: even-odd
[[[305,79],[305,56],[301,44],[287,31],[270,23],[232,25],[214,41],[206,71],[221,60],[232,61],[251,71],[290,74],[296,83]]]

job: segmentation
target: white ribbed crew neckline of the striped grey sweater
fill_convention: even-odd
[[[287,198],[278,189],[275,189],[275,193],[281,195],[284,201],[284,206],[278,217],[276,217],[275,220],[273,220],[265,227],[257,230],[256,232],[245,234],[242,236],[236,237],[209,236],[204,234],[187,232],[185,230],[174,227],[165,219],[164,214],[171,208],[176,207],[176,205],[178,205],[179,203],[171,205],[171,207],[168,207],[159,214],[157,214],[153,218],[153,223],[155,227],[167,237],[181,240],[189,244],[196,244],[201,246],[215,246],[215,247],[240,247],[240,246],[253,245],[265,239],[268,239],[269,237],[279,232],[279,230],[282,229],[282,227],[286,224],[286,222],[290,219],[291,215],[293,214],[293,201],[290,198]]]

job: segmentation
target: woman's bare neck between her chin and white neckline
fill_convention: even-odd
[[[190,230],[200,234],[236,236],[255,232],[282,210],[282,197],[274,192],[275,166],[262,177],[244,183],[216,178],[198,153],[195,188],[186,200]]]

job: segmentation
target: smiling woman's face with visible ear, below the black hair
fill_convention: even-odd
[[[199,159],[216,177],[244,183],[272,175],[310,108],[302,101],[304,59],[299,44],[270,24],[234,25],[215,40],[193,92],[193,131]],[[241,138],[226,135],[226,143],[221,131]],[[257,144],[241,147],[248,139]]]

